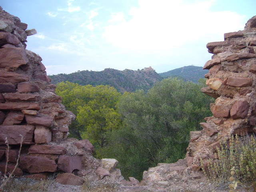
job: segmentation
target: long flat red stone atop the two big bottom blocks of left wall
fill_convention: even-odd
[[[57,145],[32,145],[30,146],[28,153],[64,155],[66,153],[66,148]]]

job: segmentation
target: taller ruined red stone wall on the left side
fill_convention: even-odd
[[[0,7],[0,171],[4,173],[7,157],[7,172],[14,168],[22,135],[15,175],[55,172],[57,164],[58,170],[71,173],[82,168],[81,155],[94,149],[88,140],[63,142],[75,115],[54,93],[42,58],[26,50],[27,36],[36,34],[26,28]]]

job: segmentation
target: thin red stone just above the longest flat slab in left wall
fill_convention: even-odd
[[[12,93],[4,96],[7,101],[39,101],[38,94]]]

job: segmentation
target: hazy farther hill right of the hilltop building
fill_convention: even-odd
[[[204,74],[208,73],[208,70],[203,70],[202,67],[197,66],[184,66],[178,69],[170,70],[168,72],[159,73],[163,78],[168,77],[181,77],[185,81],[198,82],[199,78],[204,78]]]

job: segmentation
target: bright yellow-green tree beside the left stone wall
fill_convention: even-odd
[[[57,84],[56,93],[77,116],[69,128],[72,136],[89,139],[94,146],[104,146],[106,131],[120,127],[121,115],[116,104],[121,94],[113,87],[61,82]]]

